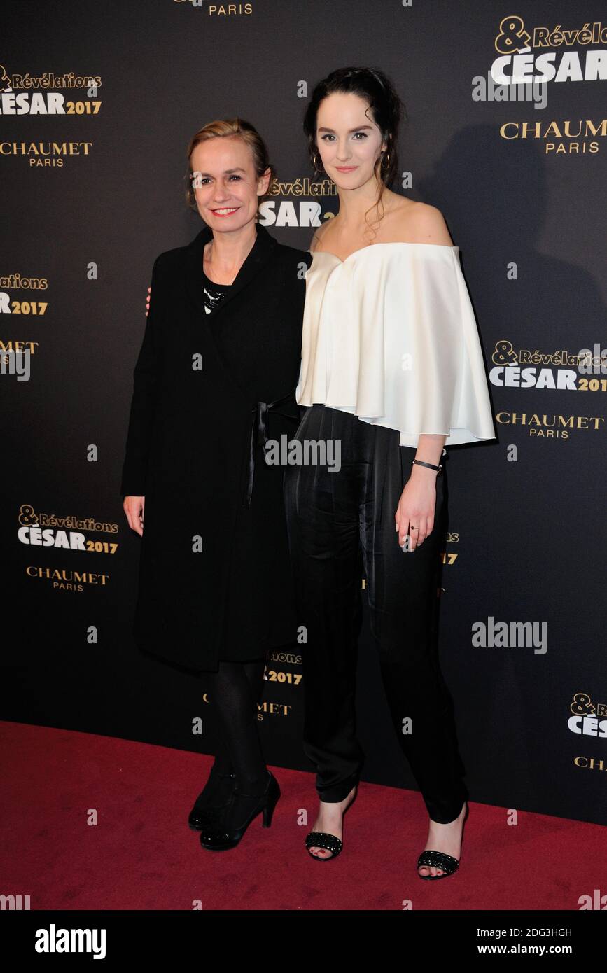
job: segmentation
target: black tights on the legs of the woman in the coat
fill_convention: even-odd
[[[235,774],[245,794],[261,794],[268,783],[257,729],[265,662],[265,658],[247,663],[221,661],[219,670],[212,673],[211,703],[217,725],[214,767],[219,774]]]

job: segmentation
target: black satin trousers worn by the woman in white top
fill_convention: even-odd
[[[307,637],[303,748],[316,768],[316,790],[323,801],[342,801],[365,756],[355,713],[364,573],[394,730],[430,817],[448,823],[468,791],[435,625],[445,465],[440,476],[429,474],[436,483],[434,528],[415,551],[403,552],[394,515],[416,450],[399,445],[398,430],[316,404],[305,408],[294,439],[340,444],[339,472],[308,463],[286,466],[284,476],[298,625]]]

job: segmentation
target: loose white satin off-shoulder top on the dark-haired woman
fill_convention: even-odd
[[[296,397],[399,429],[401,446],[495,439],[459,247],[372,243],[344,261],[315,250]]]

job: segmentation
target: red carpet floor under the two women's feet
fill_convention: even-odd
[[[415,873],[427,836],[419,794],[362,783],[336,861],[313,861],[311,774],[272,768],[282,790],[231,851],[205,851],[188,812],[212,758],[146,743],[0,723],[0,893],[30,908],[192,910],[578,910],[605,891],[605,829],[470,802],[456,875]],[[89,809],[98,814],[87,823]],[[306,809],[308,824],[298,824]]]

